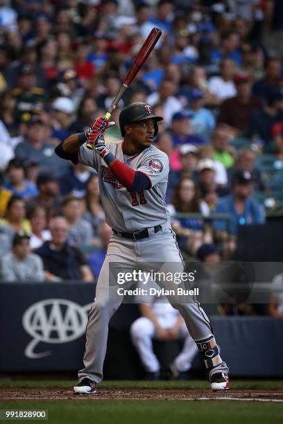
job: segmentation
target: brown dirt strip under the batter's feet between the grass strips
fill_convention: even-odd
[[[243,400],[283,403],[283,390],[98,389],[93,395],[74,395],[66,389],[1,389],[3,400],[119,399],[119,400]]]

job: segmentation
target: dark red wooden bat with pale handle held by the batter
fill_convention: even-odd
[[[119,100],[125,93],[126,89],[129,87],[132,80],[135,78],[137,73],[139,72],[139,69],[141,69],[144,62],[146,62],[146,59],[153,51],[153,48],[155,47],[155,44],[160,39],[162,34],[162,31],[159,28],[153,28],[151,30],[151,33],[149,33],[148,37],[146,38],[144,44],[141,46],[139,53],[137,53],[137,56],[132,63],[132,66],[130,67],[125,79],[123,80],[123,85],[121,89],[119,89],[119,92],[117,93],[117,96],[114,98],[114,100],[111,103],[110,109],[105,114],[106,118],[110,118],[112,112],[116,109],[117,104],[119,103]],[[91,143],[86,144],[87,148],[94,149],[94,145]]]

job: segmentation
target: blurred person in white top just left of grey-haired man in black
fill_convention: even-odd
[[[31,223],[31,250],[38,249],[47,240],[51,240],[51,233],[47,229],[46,210],[37,205],[27,213],[28,220]]]

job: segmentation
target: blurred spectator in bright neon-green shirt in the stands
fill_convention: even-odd
[[[230,127],[228,125],[216,125],[212,133],[214,161],[221,162],[225,168],[229,168],[234,164],[234,150],[229,145],[230,138]]]

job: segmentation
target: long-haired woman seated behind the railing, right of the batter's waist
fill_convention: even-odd
[[[176,233],[181,250],[188,254],[195,254],[203,242],[212,241],[212,233],[209,227],[204,224],[202,218],[174,218],[176,213],[209,215],[209,207],[206,202],[200,199],[198,186],[193,179],[181,179],[179,184],[175,186],[168,209],[172,216],[172,229]]]

